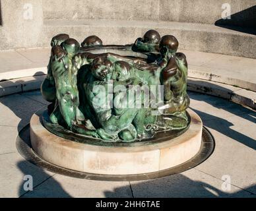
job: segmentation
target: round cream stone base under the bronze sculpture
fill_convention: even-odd
[[[201,149],[203,124],[191,109],[187,109],[191,123],[185,133],[164,142],[131,146],[95,146],[53,135],[40,121],[43,112],[30,120],[32,148],[43,160],[65,169],[98,175],[153,173],[179,166]]]

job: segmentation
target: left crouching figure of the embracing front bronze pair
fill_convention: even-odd
[[[137,109],[127,109],[122,115],[112,113],[107,92],[113,65],[106,56],[94,59],[91,70],[92,74],[88,75],[84,88],[88,103],[94,109],[95,117],[100,123],[97,133],[104,140],[116,141],[119,138],[119,132],[131,125]]]

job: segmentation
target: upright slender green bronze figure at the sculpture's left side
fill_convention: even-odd
[[[79,43],[69,38],[52,48],[51,69],[55,80],[57,103],[50,115],[52,123],[64,121],[71,131],[82,125],[84,116],[79,110],[77,69],[73,67],[73,56],[79,51]],[[63,119],[62,119],[62,118]]]

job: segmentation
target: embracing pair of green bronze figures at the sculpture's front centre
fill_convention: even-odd
[[[112,63],[110,60],[117,61]],[[127,61],[132,63],[131,59],[127,59]],[[86,99],[88,99],[88,101],[82,102],[82,105],[80,106],[83,106],[84,108],[82,110],[87,111],[87,115],[90,115],[92,111],[90,111],[90,108],[86,106],[86,103],[91,102],[91,107],[94,107],[92,105],[92,100],[95,102],[95,100],[98,99],[98,101],[94,103],[96,104],[97,108],[93,111],[95,115],[98,113],[98,122],[94,121],[93,125],[98,125],[98,123],[100,123],[97,133],[102,138],[115,139],[118,136],[121,138],[121,140],[131,141],[137,136],[140,138],[152,136],[153,132],[150,130],[148,125],[153,125],[155,123],[156,116],[152,116],[148,108],[143,108],[144,105],[140,105],[142,107],[139,108],[135,107],[136,104],[141,104],[144,102],[144,98],[141,95],[141,91],[143,91],[141,90],[141,86],[144,85],[140,79],[142,74],[148,74],[146,77],[150,78],[149,72],[142,72],[141,74],[137,73],[135,69],[129,65],[129,63],[119,61],[119,58],[115,57],[115,55],[112,53],[106,53],[102,54],[100,57],[96,57],[91,66],[86,66],[86,68],[81,71],[79,78],[86,78],[87,80],[82,81],[82,86],[84,86],[85,89],[81,88],[81,82],[79,82],[80,89],[83,89],[80,92],[82,95],[85,94],[87,96]],[[108,102],[105,101],[107,98],[105,92],[100,92],[100,94],[96,92],[96,95],[92,94],[93,88],[98,85],[104,86],[104,90],[108,90],[110,79],[113,80],[113,109],[111,109],[111,107],[106,107]],[[149,82],[146,81],[146,84],[150,84],[150,79],[148,80]],[[131,86],[134,87],[129,89]],[[118,87],[123,88],[123,90],[117,90],[116,88]],[[135,94],[136,90],[137,92],[139,91],[139,94]],[[88,94],[90,95],[88,96]],[[101,94],[103,96],[101,96]],[[129,98],[129,96],[132,95],[133,97]],[[81,100],[83,101],[83,98],[81,98]],[[129,105],[134,107],[129,107]],[[133,115],[133,113],[135,114]],[[111,117],[112,114],[113,116]],[[87,117],[85,113],[84,115]],[[106,119],[102,119],[103,117],[109,118],[108,121],[106,121]],[[127,117],[130,117],[129,121],[127,121],[127,123],[130,123],[129,125],[121,122]],[[109,125],[111,124],[118,125],[116,130],[111,131],[108,129]],[[146,129],[146,127],[148,128]]]

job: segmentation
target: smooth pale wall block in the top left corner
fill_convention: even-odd
[[[44,25],[42,0],[0,0],[0,2],[2,17],[0,49],[37,47],[42,38]],[[32,4],[32,19],[26,14],[27,3]]]

